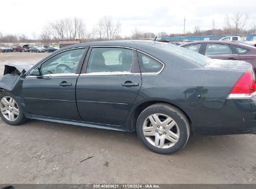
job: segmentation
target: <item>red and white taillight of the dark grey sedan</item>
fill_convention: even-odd
[[[256,94],[256,82],[253,71],[246,71],[235,83],[228,98],[251,98]]]

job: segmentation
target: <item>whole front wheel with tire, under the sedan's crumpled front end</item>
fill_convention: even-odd
[[[0,93],[0,117],[4,122],[12,126],[17,126],[27,121],[21,103],[19,103],[16,96],[8,91]]]

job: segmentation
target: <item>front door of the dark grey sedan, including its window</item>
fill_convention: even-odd
[[[87,48],[65,50],[26,76],[22,94],[26,111],[35,116],[80,120],[75,85]]]

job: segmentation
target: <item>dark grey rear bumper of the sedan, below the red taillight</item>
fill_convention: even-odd
[[[195,134],[256,134],[256,96],[227,99],[221,108],[184,109]]]

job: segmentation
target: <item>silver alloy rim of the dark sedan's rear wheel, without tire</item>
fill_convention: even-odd
[[[168,149],[179,140],[179,126],[165,114],[152,114],[143,122],[143,134],[154,147]]]

